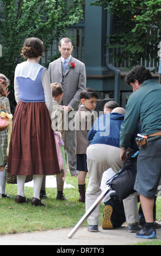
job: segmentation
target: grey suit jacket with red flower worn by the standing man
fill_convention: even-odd
[[[75,68],[71,68],[70,63],[75,63]],[[54,60],[49,64],[49,75],[51,83],[61,83],[64,89],[61,105],[69,105],[77,111],[80,103],[80,92],[86,86],[86,72],[84,63],[71,57],[63,76],[61,58]]]

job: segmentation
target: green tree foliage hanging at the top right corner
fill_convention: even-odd
[[[115,53],[116,61],[129,60],[129,68],[139,64],[141,58],[158,62],[161,0],[96,0],[92,4],[110,9],[113,14],[114,29],[108,47],[122,47],[122,53]]]

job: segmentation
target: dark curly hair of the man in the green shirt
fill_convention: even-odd
[[[143,83],[145,80],[152,79],[151,72],[144,66],[137,65],[128,73],[125,77],[125,82],[130,84],[138,80],[139,84]]]

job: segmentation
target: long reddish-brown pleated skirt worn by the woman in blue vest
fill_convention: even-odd
[[[60,173],[45,102],[18,102],[9,147],[8,172],[13,175]]]

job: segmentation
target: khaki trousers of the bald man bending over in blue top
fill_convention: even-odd
[[[88,163],[88,173],[89,173],[89,183],[86,189],[85,196],[85,209],[86,211],[90,208],[90,206],[95,202],[98,196],[101,194],[101,178],[104,170],[112,168],[115,173],[117,173],[123,166],[123,162],[120,160],[121,149],[117,147],[113,147],[106,144],[91,144],[86,150],[87,155],[87,163]],[[125,199],[127,200],[127,199]],[[123,201],[125,201],[123,200]],[[132,200],[134,203],[134,200]],[[135,218],[135,213],[131,211],[131,200],[127,201],[126,206],[126,214],[128,216],[133,215],[133,220]],[[134,203],[134,208],[137,205]],[[136,211],[135,211],[136,212]],[[99,214],[100,214],[100,205],[92,212],[92,214],[88,217],[89,225],[98,225],[99,222]],[[128,221],[128,220],[127,220]],[[135,221],[132,221],[133,223]]]

